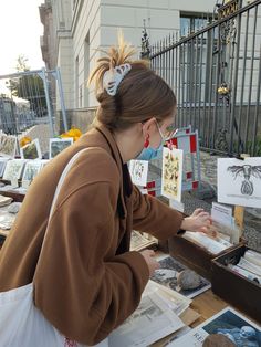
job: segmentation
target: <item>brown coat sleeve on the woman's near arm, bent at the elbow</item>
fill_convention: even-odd
[[[100,182],[63,201],[35,271],[35,306],[82,344],[97,344],[122,324],[138,306],[149,276],[138,252],[115,255],[116,199],[111,186]]]

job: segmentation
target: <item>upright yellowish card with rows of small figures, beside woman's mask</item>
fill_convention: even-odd
[[[181,149],[164,147],[161,194],[179,202],[182,190],[182,161],[184,153]]]

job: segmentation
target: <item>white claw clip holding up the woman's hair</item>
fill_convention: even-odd
[[[126,63],[113,67],[105,72],[103,76],[103,86],[108,93],[108,95],[116,95],[119,83],[126,76],[126,74],[132,70],[132,65]]]

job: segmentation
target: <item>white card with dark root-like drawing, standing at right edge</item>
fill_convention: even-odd
[[[261,157],[218,159],[218,202],[260,208]]]

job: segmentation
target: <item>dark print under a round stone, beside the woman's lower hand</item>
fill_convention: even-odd
[[[158,262],[160,264],[160,269],[155,271],[154,275],[152,276],[152,280],[189,298],[195,297],[198,294],[209,290],[211,286],[209,281],[197,275],[198,285],[196,288],[181,290],[178,283],[178,276],[181,272],[188,270],[188,267],[178,262],[175,257],[169,255],[160,257]]]

